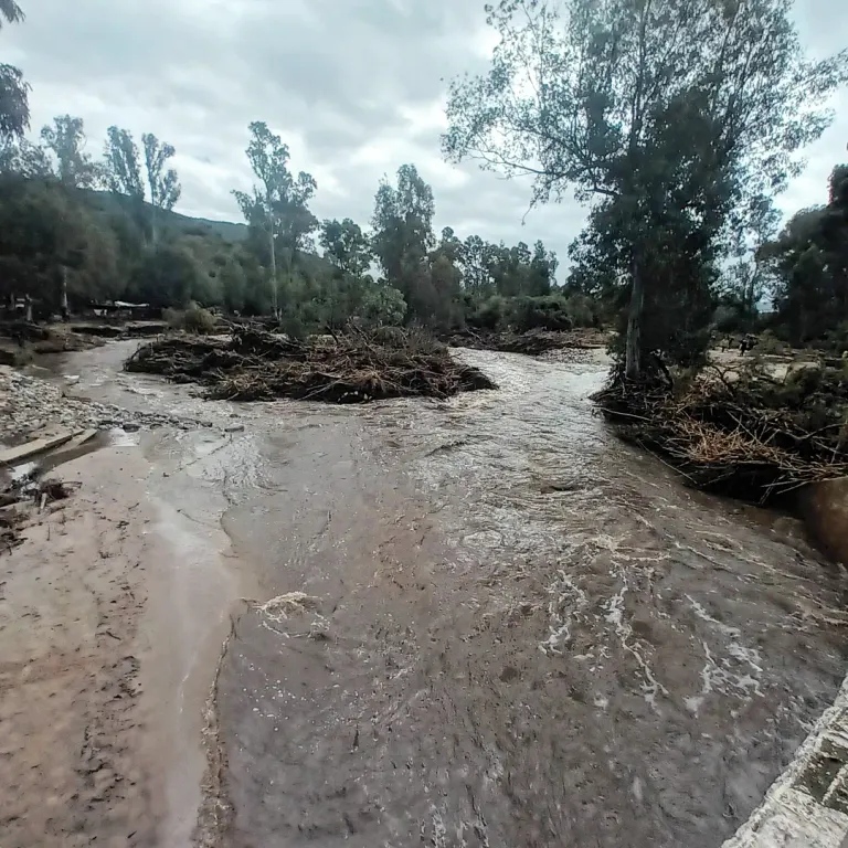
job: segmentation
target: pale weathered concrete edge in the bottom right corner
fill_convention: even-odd
[[[763,803],[722,848],[848,848],[848,677]]]

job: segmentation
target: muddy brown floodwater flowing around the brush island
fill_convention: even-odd
[[[613,438],[600,361],[464,351],[499,391],[239,406],[127,350],[62,369],[213,424],[141,447],[250,574],[204,845],[716,848],[841,682],[839,570]]]

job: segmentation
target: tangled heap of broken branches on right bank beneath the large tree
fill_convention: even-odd
[[[848,380],[831,368],[785,379],[753,364],[710,367],[683,385],[612,377],[594,395],[618,435],[658,454],[696,487],[759,502],[848,475]]]

